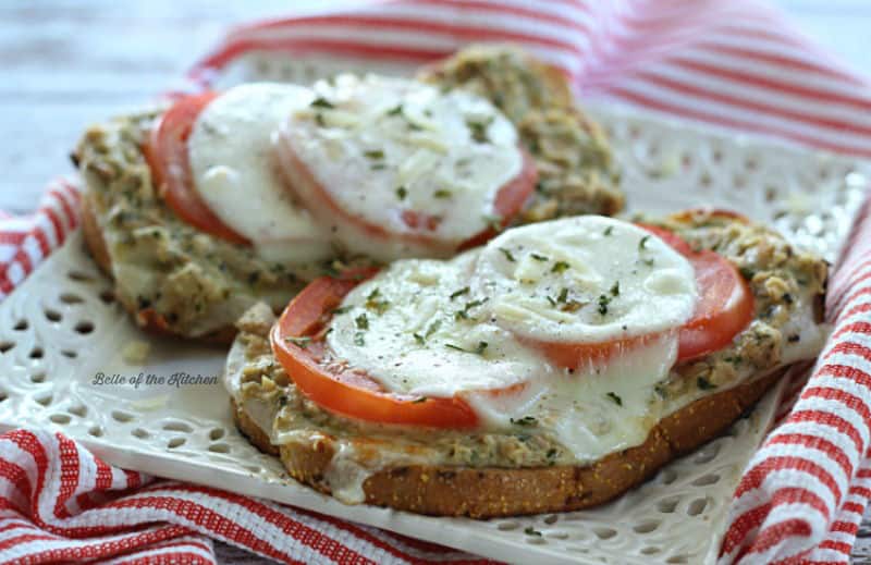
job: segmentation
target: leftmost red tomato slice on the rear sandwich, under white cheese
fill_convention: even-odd
[[[199,112],[218,96],[205,93],[180,98],[151,130],[144,148],[155,186],[167,205],[199,231],[242,245],[250,243],[224,224],[199,197],[191,176],[187,138]]]

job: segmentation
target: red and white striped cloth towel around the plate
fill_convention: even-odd
[[[871,156],[871,85],[751,0],[401,0],[231,33],[191,78],[253,49],[428,62],[512,41],[560,65],[586,98]],[[30,219],[0,219],[0,297],[76,224],[50,188]],[[835,332],[750,462],[721,563],[845,563],[871,498],[871,205],[831,283]],[[392,533],[110,468],[46,432],[0,438],[0,557],[211,562],[221,539],[286,562],[469,562]]]

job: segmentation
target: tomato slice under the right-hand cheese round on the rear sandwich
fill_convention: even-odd
[[[458,246],[455,246],[456,250],[468,249],[483,244],[507,225],[523,209],[529,195],[535,191],[538,171],[531,156],[523,148],[520,148],[520,152],[523,156],[520,172],[500,187],[493,201],[493,209],[500,218],[498,225],[489,226],[462,242]],[[330,191],[311,174],[308,167],[287,143],[281,144],[281,163],[286,176],[294,180],[290,189],[324,223],[341,221],[353,225],[366,237],[379,239],[398,238],[430,248],[445,248],[445,242],[438,239],[431,233],[438,229],[441,218],[421,211],[398,208],[396,213],[402,218],[403,223],[409,228],[410,233],[396,233],[385,229],[382,224],[370,223],[338,202],[330,194]],[[397,202],[396,206],[400,207],[402,204]]]

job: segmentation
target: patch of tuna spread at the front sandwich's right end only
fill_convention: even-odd
[[[678,365],[658,389],[673,409],[687,394],[698,397],[706,390],[723,390],[813,358],[822,349],[827,337],[822,322],[829,273],[823,259],[798,251],[776,232],[731,213],[698,210],[648,223],[675,232],[695,249],[728,258],[748,281],[756,304],[753,321],[729,347]]]

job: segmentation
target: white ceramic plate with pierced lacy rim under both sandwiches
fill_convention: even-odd
[[[217,78],[223,84],[265,77],[310,82],[355,65],[247,57]],[[871,176],[871,164],[863,161],[729,137],[626,109],[597,108],[594,113],[623,167],[629,213],[700,205],[733,208],[829,260],[837,257]],[[222,349],[145,336],[109,288],[76,234],[0,304],[0,426],[53,427],[114,465],[272,499],[508,562],[712,561],[732,492],[780,394],[766,396],[726,435],[596,509],[479,521],[345,506],[285,478],[277,459],[236,432],[220,379],[214,384],[169,383],[179,372],[219,377]],[[125,347],[143,340],[150,342],[147,360],[125,363]],[[100,372],[122,376],[126,383],[95,384]],[[137,386],[139,374],[167,382]]]

